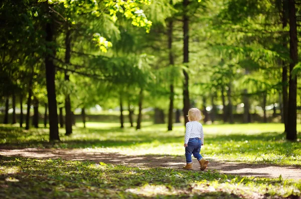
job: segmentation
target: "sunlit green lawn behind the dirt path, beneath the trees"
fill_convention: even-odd
[[[77,124],[80,126],[80,124]],[[48,142],[48,129],[22,130],[0,126],[0,144],[7,148],[59,147],[86,148],[98,152],[123,154],[183,155],[184,126],[167,131],[166,125],[142,123],[142,129],[119,128],[119,123],[88,122],[87,128],[76,127],[71,136],[60,129],[61,142]],[[301,130],[301,125],[297,126]],[[201,153],[206,158],[274,163],[301,166],[301,142],[285,140],[283,124],[218,124],[204,125],[205,143]],[[300,133],[298,138],[300,139]]]

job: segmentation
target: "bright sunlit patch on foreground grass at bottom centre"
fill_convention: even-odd
[[[158,194],[171,195],[176,193],[175,190],[169,189],[164,185],[155,185],[155,184],[151,184],[151,185],[145,184],[137,188],[128,188],[125,191],[138,194],[138,195],[148,196],[148,197],[152,197]]]

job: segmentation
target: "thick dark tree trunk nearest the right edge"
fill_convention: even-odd
[[[288,1],[289,15],[289,48],[290,48],[290,63],[289,63],[289,95],[288,95],[288,118],[286,139],[296,140],[297,138],[297,75],[292,77],[291,71],[298,62],[298,40],[297,40],[297,24],[295,1]]]

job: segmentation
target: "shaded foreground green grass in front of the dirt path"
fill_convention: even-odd
[[[257,198],[300,195],[301,180],[90,161],[0,156],[1,198]]]

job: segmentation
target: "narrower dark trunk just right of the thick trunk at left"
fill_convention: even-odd
[[[70,37],[70,30],[67,27],[66,30],[66,38],[65,38],[65,63],[66,67],[68,67],[68,63],[70,63],[70,58],[71,58],[71,37]],[[65,80],[69,81],[69,74],[67,71],[65,71]],[[71,99],[70,99],[70,94],[67,93],[65,96],[65,111],[66,111],[66,135],[69,135],[72,133],[72,111],[71,111]]]

